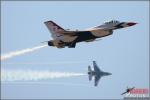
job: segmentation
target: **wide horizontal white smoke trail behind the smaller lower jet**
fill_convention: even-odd
[[[86,74],[74,72],[50,72],[33,70],[2,70],[1,81],[38,81],[82,75]]]

